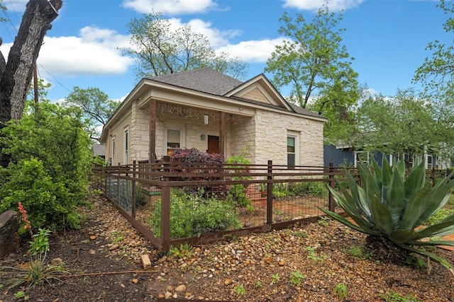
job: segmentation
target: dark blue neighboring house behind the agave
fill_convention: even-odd
[[[380,151],[363,151],[360,149],[355,149],[353,146],[348,144],[330,144],[325,142],[323,145],[323,164],[325,166],[330,165],[331,163],[334,166],[353,166],[358,167],[359,162],[371,163],[372,158],[375,158],[375,161],[379,165],[382,164],[383,156],[386,156],[386,159],[389,163],[392,163],[394,160],[397,161],[401,157],[399,154],[384,154]],[[414,156],[414,158],[409,158],[408,155],[404,155],[405,161],[409,163],[411,167],[421,163],[421,161],[426,161],[426,169],[431,170],[436,169],[447,169],[450,168],[449,161],[444,161],[440,156],[426,151],[425,153]]]

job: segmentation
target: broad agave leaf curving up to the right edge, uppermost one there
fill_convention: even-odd
[[[453,175],[453,173],[451,173],[451,175]],[[421,216],[419,216],[418,221],[416,221],[416,226],[421,225],[448,202],[453,187],[454,180],[450,180],[450,176],[448,176],[448,178],[438,182],[438,184],[432,188],[427,199],[426,207]]]

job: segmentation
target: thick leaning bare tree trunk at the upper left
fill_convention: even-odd
[[[28,88],[33,76],[33,64],[38,58],[45,33],[58,16],[62,0],[30,0],[23,13],[21,26],[9,51],[8,62],[0,52],[0,130],[11,119],[21,119]],[[2,70],[3,69],[3,70]],[[0,165],[9,158],[0,155]]]

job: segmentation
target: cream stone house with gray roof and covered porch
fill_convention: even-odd
[[[323,165],[326,119],[287,103],[264,74],[242,82],[204,68],[142,79],[104,126],[113,165],[154,162],[175,148],[251,163]]]

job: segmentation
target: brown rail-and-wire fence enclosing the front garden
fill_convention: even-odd
[[[340,211],[327,186],[355,168],[133,163],[94,168],[118,211],[162,250],[316,221]]]

